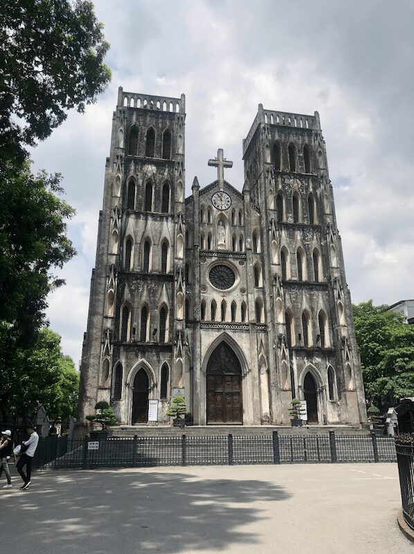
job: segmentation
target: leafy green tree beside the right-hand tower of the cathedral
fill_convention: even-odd
[[[387,308],[371,300],[353,307],[366,396],[378,405],[414,395],[414,325]]]

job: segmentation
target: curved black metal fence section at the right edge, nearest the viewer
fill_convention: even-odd
[[[403,435],[395,440],[401,488],[402,513],[406,524],[414,530],[414,436]]]

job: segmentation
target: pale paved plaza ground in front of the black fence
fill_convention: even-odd
[[[413,554],[397,465],[35,472],[0,490],[0,551],[17,554]]]

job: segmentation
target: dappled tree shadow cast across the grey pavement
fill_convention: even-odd
[[[1,494],[2,526],[10,531],[2,547],[129,554],[254,546],[259,536],[243,526],[258,519],[266,525],[266,503],[288,497],[266,481],[200,479],[174,470],[36,472],[33,488]]]

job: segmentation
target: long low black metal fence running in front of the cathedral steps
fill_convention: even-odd
[[[39,440],[34,467],[156,467],[273,463],[394,462],[392,438],[367,435],[134,436]]]

